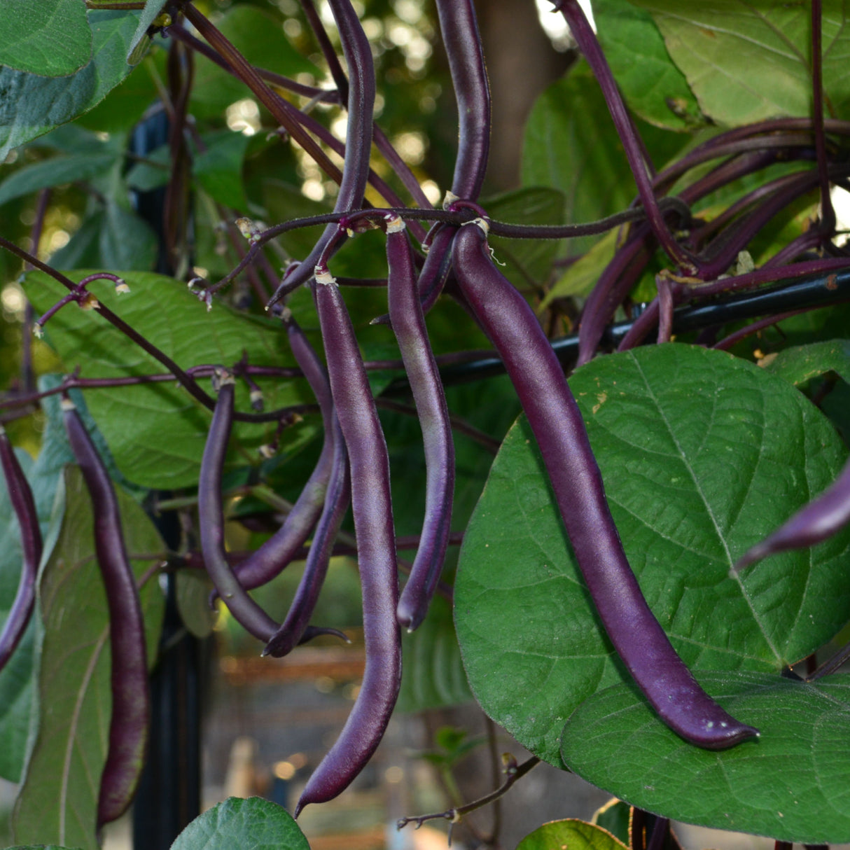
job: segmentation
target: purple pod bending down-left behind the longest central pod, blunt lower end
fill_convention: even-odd
[[[333,468],[335,430],[333,422],[336,415],[333,412],[331,385],[327,380],[325,365],[297,321],[292,318],[292,312],[289,309],[283,310],[281,319],[289,334],[289,345],[295,356],[295,362],[301,367],[319,403],[325,427],[325,439],[313,473],[280,529],[241,564],[233,568],[236,578],[246,590],[252,590],[271,581],[295,558],[295,553],[303,546],[320,517]]]

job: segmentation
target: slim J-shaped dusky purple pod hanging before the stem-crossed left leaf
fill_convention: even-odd
[[[201,552],[207,574],[212,579],[218,595],[255,638],[267,641],[277,631],[278,623],[272,620],[254,600],[234,575],[224,553],[224,513],[221,506],[221,473],[224,456],[233,425],[234,377],[222,371],[218,377],[218,401],[212,412],[207,445],[201,458],[201,475],[198,479],[198,525],[201,531]]]

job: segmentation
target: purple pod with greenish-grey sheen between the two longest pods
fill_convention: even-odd
[[[412,632],[428,613],[449,545],[455,489],[455,447],[449,408],[434,360],[416,289],[416,269],[405,223],[387,217],[389,318],[411,384],[425,447],[425,519],[410,578],[396,609],[399,625]]]

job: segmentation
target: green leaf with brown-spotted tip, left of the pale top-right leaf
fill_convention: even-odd
[[[652,15],[627,0],[593,0],[593,18],[629,109],[644,121],[670,130],[690,130],[705,122]]]

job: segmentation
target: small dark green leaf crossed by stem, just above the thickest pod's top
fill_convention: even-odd
[[[555,189],[519,189],[484,201],[490,218],[522,224],[563,224],[564,194]],[[490,246],[503,275],[514,286],[527,289],[547,281],[558,241],[553,239],[504,239],[490,237]]]

